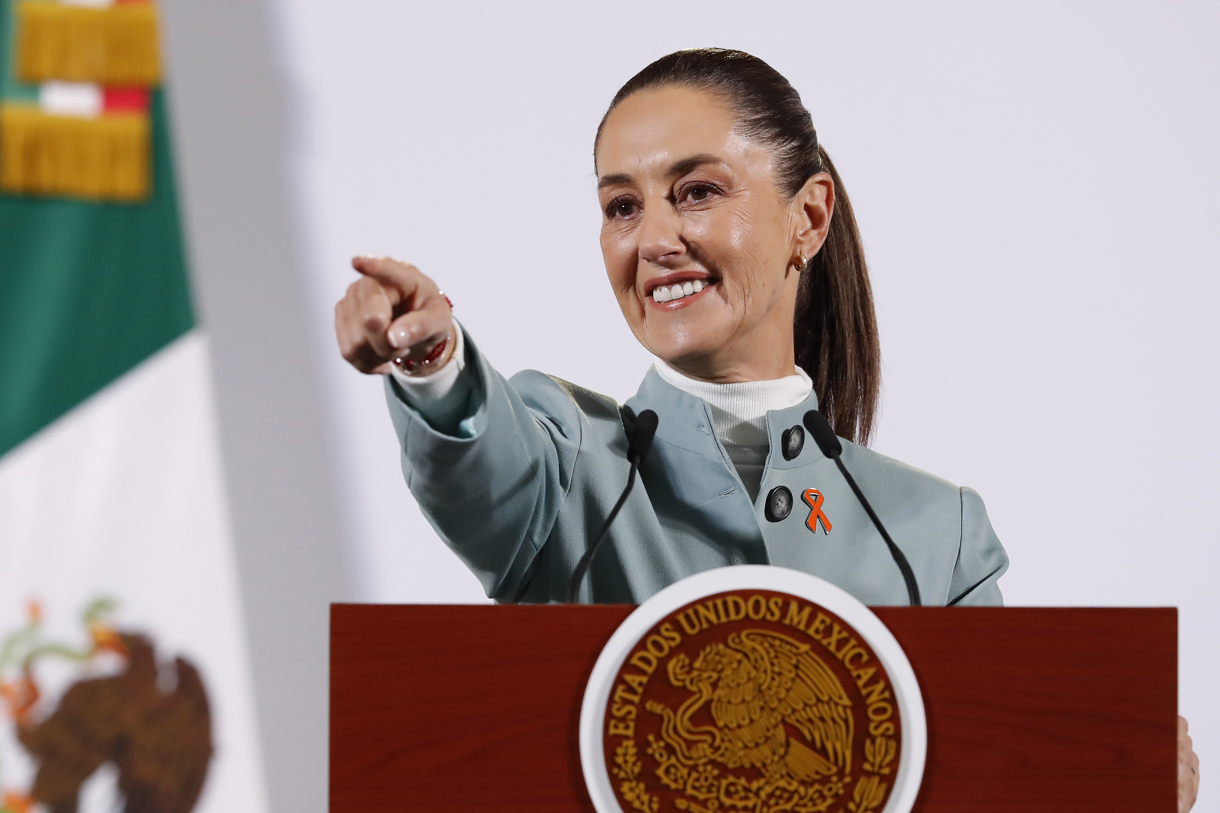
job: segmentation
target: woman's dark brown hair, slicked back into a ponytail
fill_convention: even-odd
[[[800,94],[756,56],[699,48],[662,56],[622,85],[610,111],[648,88],[683,85],[730,104],[738,132],[775,155],[776,186],[789,198],[819,172],[834,182],[834,211],[826,242],[802,272],[793,319],[797,364],[814,380],[819,406],[837,435],[867,443],[881,389],[881,347],[869,267],[847,189],[817,143]],[[593,144],[597,153],[597,140]]]

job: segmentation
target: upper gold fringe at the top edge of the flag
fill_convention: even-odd
[[[151,2],[94,9],[21,0],[17,76],[29,83],[155,85],[161,78],[156,15]]]

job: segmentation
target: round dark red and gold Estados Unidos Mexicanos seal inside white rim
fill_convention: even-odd
[[[900,720],[888,675],[825,608],[715,593],[640,636],[604,718],[619,804],[638,813],[877,813]]]

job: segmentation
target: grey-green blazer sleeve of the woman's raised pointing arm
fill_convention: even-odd
[[[473,386],[455,431],[433,427],[392,376],[386,397],[403,474],[425,516],[489,598],[515,601],[567,496],[582,421],[548,376],[528,371],[510,382],[468,333],[464,343]]]

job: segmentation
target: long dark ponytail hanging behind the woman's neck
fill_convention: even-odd
[[[802,273],[793,344],[834,433],[866,446],[881,391],[872,287],[847,189],[821,146],[817,157],[834,182],[834,211],[826,242]]]

